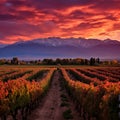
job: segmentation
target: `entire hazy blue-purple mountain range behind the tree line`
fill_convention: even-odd
[[[40,38],[0,44],[0,58],[90,58],[120,59],[120,42],[85,38]]]

